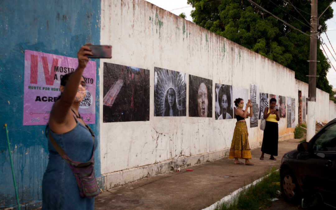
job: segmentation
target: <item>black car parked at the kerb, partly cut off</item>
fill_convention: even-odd
[[[336,118],[309,142],[287,152],[280,166],[280,186],[285,200],[300,201],[319,195],[324,203],[336,206]],[[308,200],[308,199],[306,199]]]

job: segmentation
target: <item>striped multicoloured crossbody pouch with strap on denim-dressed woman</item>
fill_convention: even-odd
[[[93,138],[93,150],[92,150],[92,157],[88,162],[77,162],[71,160],[69,156],[62,150],[62,148],[57,144],[55,139],[51,136],[49,131],[49,138],[51,144],[54,146],[55,150],[58,154],[65,160],[65,162],[70,167],[71,171],[73,172],[76,182],[79,189],[79,195],[81,197],[86,198],[93,198],[99,194],[99,189],[96,181],[96,177],[94,175],[94,134],[89,126],[85,125],[89,131],[91,132]]]

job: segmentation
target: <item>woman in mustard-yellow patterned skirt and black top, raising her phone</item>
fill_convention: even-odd
[[[252,117],[252,104],[251,101],[248,100],[246,110],[243,110],[244,100],[242,98],[236,98],[235,105],[237,107],[235,112],[237,123],[233,133],[229,159],[235,159],[234,164],[244,164],[243,162],[238,161],[238,159],[245,159],[245,165],[253,166],[254,163],[249,160],[252,156],[248,139],[249,134],[247,132],[245,121],[246,116]],[[250,113],[247,112],[247,108],[249,107]]]

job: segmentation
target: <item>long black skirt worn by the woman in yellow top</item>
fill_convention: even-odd
[[[261,152],[268,155],[278,156],[278,138],[278,123],[266,121]]]

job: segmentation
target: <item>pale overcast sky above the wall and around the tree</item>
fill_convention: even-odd
[[[190,5],[187,4],[187,0],[146,0],[148,2],[151,2],[165,10],[168,10],[176,15],[181,14],[182,12],[185,13],[187,16],[186,19],[193,21],[192,17],[190,16],[190,12],[193,9]],[[326,45],[323,45],[324,50],[327,53],[327,56],[329,57],[331,64],[335,67],[336,69],[336,2],[334,2],[331,7],[334,9],[334,17],[330,20],[327,21],[328,25],[328,31],[327,35],[329,37],[330,43],[327,39],[327,36],[323,34],[321,38],[325,42],[325,44],[328,46],[329,50],[327,49]],[[332,47],[334,48],[335,52],[333,51]],[[322,47],[321,47],[322,49]],[[323,49],[322,49],[323,51]],[[333,57],[334,56],[334,57]],[[335,59],[334,59],[335,58]],[[327,79],[329,81],[329,84],[333,86],[333,88],[336,88],[336,71],[334,70],[333,67],[329,69],[329,72],[327,74]]]

